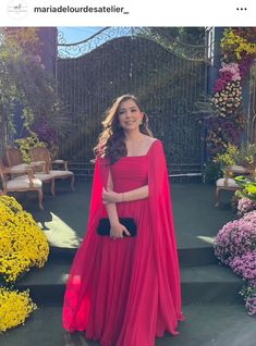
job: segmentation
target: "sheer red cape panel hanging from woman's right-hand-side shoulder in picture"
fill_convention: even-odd
[[[159,289],[156,334],[161,336],[164,332],[162,326],[164,326],[164,330],[175,335],[178,332],[174,328],[179,320],[184,320],[184,316],[181,311],[180,269],[170,185],[166,156],[160,140],[156,140],[149,151],[148,162],[150,224],[153,225]],[[171,313],[171,311],[175,311],[175,313]]]

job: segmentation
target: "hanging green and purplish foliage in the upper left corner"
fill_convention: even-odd
[[[61,128],[63,112],[53,76],[45,70],[39,55],[38,28],[0,29],[0,144],[7,134],[16,134],[14,112],[22,107],[23,131],[39,116],[46,116],[54,128]]]

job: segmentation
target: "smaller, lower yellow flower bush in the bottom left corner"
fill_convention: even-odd
[[[25,319],[36,310],[29,292],[11,291],[0,287],[0,333],[10,328],[24,324]]]

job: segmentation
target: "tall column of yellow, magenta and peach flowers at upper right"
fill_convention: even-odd
[[[221,67],[211,97],[218,125],[215,126],[211,120],[207,123],[207,144],[214,153],[225,149],[228,141],[237,145],[244,128],[242,83],[255,61],[255,35],[254,27],[224,29],[220,45]]]

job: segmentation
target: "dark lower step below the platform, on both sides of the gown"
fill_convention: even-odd
[[[44,268],[31,270],[16,286],[29,288],[37,304],[62,305],[70,267],[70,261],[63,259],[49,260]],[[242,280],[219,264],[182,267],[181,284],[184,304],[242,302]]]

